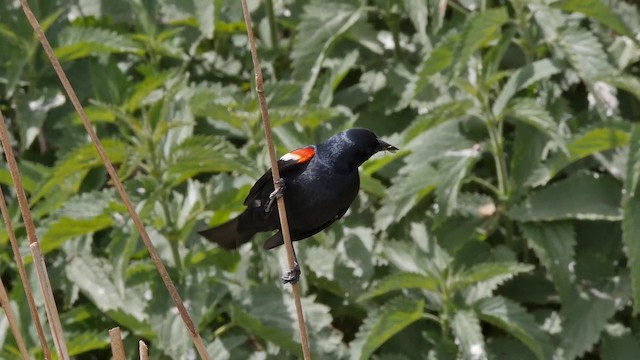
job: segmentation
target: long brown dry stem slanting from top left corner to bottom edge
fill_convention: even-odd
[[[47,54],[47,57],[49,58],[51,65],[53,66],[53,70],[58,75],[58,78],[62,83],[62,87],[64,87],[67,93],[67,96],[69,96],[69,100],[71,100],[73,107],[76,109],[76,112],[80,116],[80,119],[82,120],[82,124],[84,125],[85,130],[87,131],[87,134],[91,138],[91,142],[95,146],[96,151],[100,156],[100,159],[102,160],[105,168],[107,169],[107,172],[109,173],[109,177],[111,178],[111,181],[113,182],[113,185],[116,188],[116,191],[120,195],[122,202],[127,208],[129,215],[131,216],[131,220],[133,221],[136,229],[138,230],[138,233],[140,234],[140,237],[142,238],[142,242],[144,243],[147,250],[149,251],[149,256],[151,256],[151,260],[156,266],[156,269],[158,270],[158,273],[162,278],[162,282],[164,283],[165,287],[167,288],[167,291],[169,292],[169,296],[171,296],[171,299],[176,305],[176,308],[180,313],[180,317],[182,318],[182,321],[184,322],[185,327],[187,328],[189,335],[191,336],[191,339],[193,340],[193,343],[195,344],[195,347],[198,353],[200,354],[200,357],[208,360],[209,354],[207,353],[207,348],[204,345],[204,341],[202,341],[202,337],[200,336],[198,329],[196,329],[193,321],[191,320],[191,317],[189,316],[189,312],[187,311],[187,308],[184,306],[182,299],[178,294],[178,290],[173,284],[173,281],[171,280],[171,278],[169,277],[169,273],[167,272],[167,269],[164,267],[164,264],[160,259],[160,255],[158,254],[158,251],[156,250],[155,246],[151,242],[151,239],[149,238],[149,234],[147,234],[147,231],[144,228],[144,225],[142,224],[142,220],[136,213],[133,203],[131,202],[131,199],[129,199],[129,195],[127,195],[127,192],[125,191],[122,181],[118,177],[118,174],[116,173],[116,170],[113,167],[113,164],[107,157],[107,154],[104,148],[102,147],[102,143],[100,142],[98,135],[96,134],[93,127],[91,126],[91,122],[89,121],[89,118],[87,117],[87,114],[85,113],[84,108],[82,107],[82,104],[80,104],[80,100],[78,99],[78,96],[76,95],[75,90],[73,90],[71,83],[69,83],[69,79],[67,78],[67,75],[62,69],[62,66],[60,65],[60,61],[55,56],[53,49],[49,44],[49,40],[47,40],[47,37],[42,31],[42,27],[40,26],[40,23],[33,15],[33,12],[31,11],[31,8],[29,7],[29,4],[27,3],[27,1],[20,0],[20,4],[22,5],[22,10],[26,15],[27,20],[31,24],[31,27],[35,31],[36,35],[38,36],[38,39],[40,40],[40,44],[42,45],[45,53]]]

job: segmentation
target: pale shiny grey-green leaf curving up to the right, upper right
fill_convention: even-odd
[[[558,74],[564,68],[562,62],[555,59],[542,59],[527,64],[511,74],[509,80],[502,87],[502,91],[493,103],[491,112],[498,116],[507,106],[511,98],[520,90]]]

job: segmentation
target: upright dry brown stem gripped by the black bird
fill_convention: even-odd
[[[247,27],[247,37],[249,38],[249,45],[251,47],[251,59],[253,60],[253,67],[256,74],[256,92],[258,93],[258,102],[260,103],[260,113],[262,114],[262,123],[264,127],[264,136],[267,142],[267,150],[269,151],[269,159],[271,160],[273,186],[277,190],[280,188],[280,170],[278,169],[278,159],[276,157],[276,150],[273,147],[273,139],[271,136],[271,122],[269,120],[269,108],[267,107],[267,99],[264,96],[264,80],[262,78],[262,69],[260,68],[260,60],[258,58],[258,51],[256,50],[256,42],[253,36],[253,29],[251,28],[251,14],[249,13],[249,8],[247,7],[247,1],[241,0],[241,3],[242,13],[244,15],[244,23]],[[295,266],[295,255],[293,250],[293,243],[291,242],[291,233],[289,231],[289,220],[287,218],[287,210],[284,204],[284,196],[278,198],[278,216],[280,218],[280,231],[282,232],[284,246],[287,250],[289,269],[293,270]],[[300,301],[300,286],[297,283],[291,284],[291,289],[293,290],[293,299],[296,305],[298,328],[300,329],[300,339],[302,343],[302,354],[304,355],[305,360],[310,360],[311,351],[309,350],[307,328],[304,323],[302,302]]]

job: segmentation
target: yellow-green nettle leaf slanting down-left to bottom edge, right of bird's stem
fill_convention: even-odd
[[[369,359],[391,337],[422,318],[423,300],[396,297],[369,312],[350,343],[351,359]]]

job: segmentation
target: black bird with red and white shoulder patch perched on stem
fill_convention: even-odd
[[[367,129],[349,129],[318,145],[293,150],[278,160],[285,206],[293,241],[308,238],[340,219],[360,189],[358,167],[379,151],[396,151]],[[236,249],[258,232],[280,229],[271,170],[251,188],[246,210],[200,235],[225,249]],[[264,243],[272,249],[284,243],[276,232]],[[297,263],[297,261],[296,261]],[[299,269],[297,269],[299,275]],[[292,274],[289,274],[292,275]],[[295,282],[283,277],[284,282]]]

